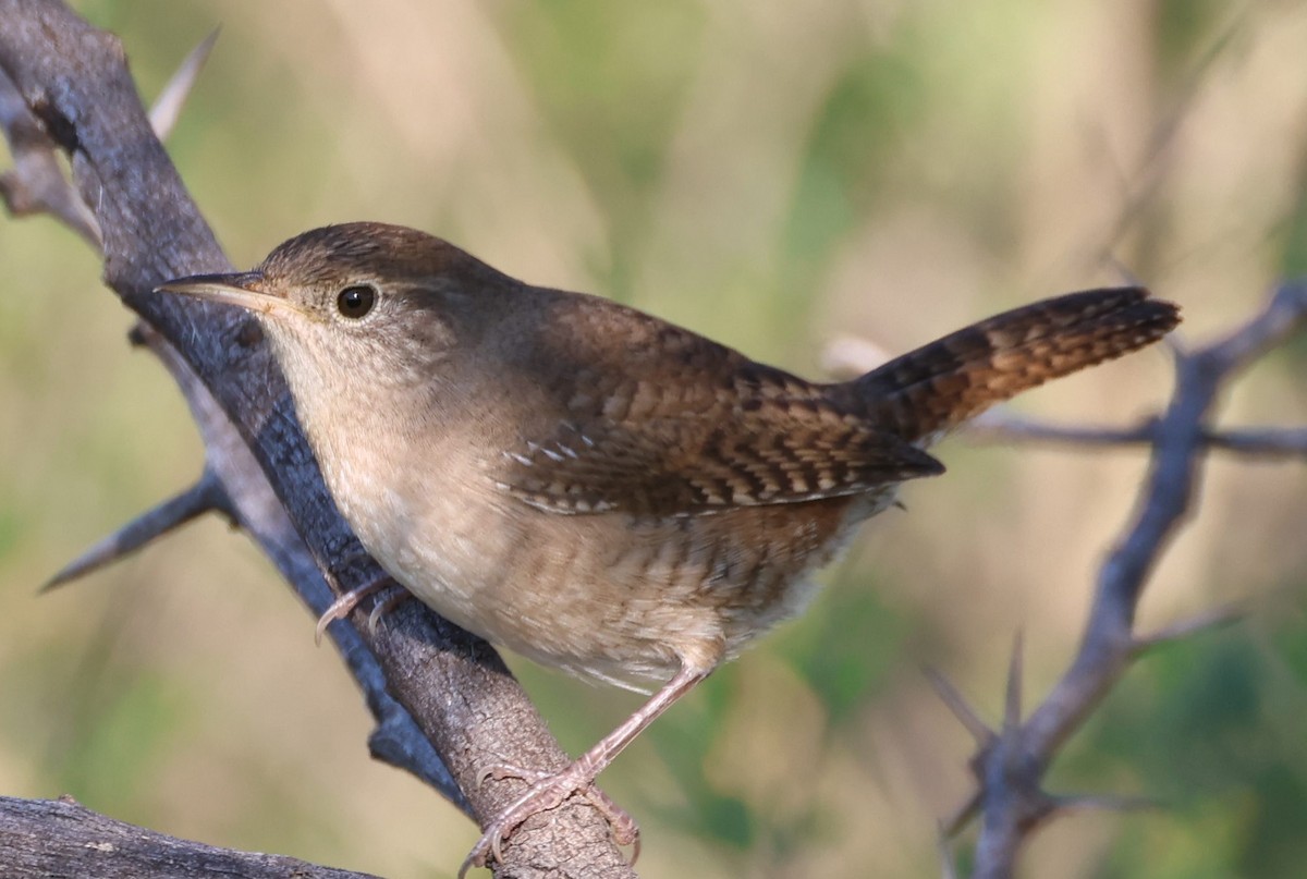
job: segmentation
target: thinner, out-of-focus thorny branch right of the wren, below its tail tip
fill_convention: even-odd
[[[1013,715],[1019,687],[1019,647],[1008,679],[1002,729],[991,730],[962,695],[937,671],[931,683],[976,743],[971,769],[976,790],[941,824],[950,837],[980,816],[980,838],[972,875],[1012,875],[1022,840],[1057,811],[1072,808],[1137,808],[1141,802],[1111,797],[1053,797],[1040,782],[1065,740],[1103,701],[1131,662],[1165,641],[1223,625],[1239,608],[1218,607],[1161,632],[1133,630],[1134,612],[1153,568],[1185,518],[1209,450],[1257,458],[1307,457],[1307,428],[1214,428],[1212,409],[1221,391],[1259,357],[1307,327],[1307,281],[1282,285],[1265,309],[1229,336],[1196,352],[1176,352],[1176,386],[1161,416],[1128,428],[1051,425],[1000,407],[966,426],[982,442],[1053,442],[1084,447],[1149,446],[1151,464],[1138,496],[1138,509],[1103,564],[1080,649],[1067,672],[1025,722]],[[878,349],[840,339],[825,362],[836,374],[860,374],[882,358]],[[941,840],[946,872],[953,863]]]

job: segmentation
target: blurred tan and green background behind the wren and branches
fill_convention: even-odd
[[[148,101],[222,27],[169,146],[240,267],[320,224],[403,222],[810,377],[836,336],[901,352],[1128,277],[1180,302],[1195,344],[1307,267],[1298,3],[74,5],[122,35]],[[80,239],[5,221],[0,266],[0,794],[452,875],[474,828],[369,760],[358,693],[242,535],[204,521],[37,596],[188,485],[201,449]],[[1304,368],[1307,340],[1276,352],[1222,422],[1307,422]],[[1017,408],[1123,425],[1170,385],[1159,348]],[[966,437],[938,453],[949,475],[867,527],[802,620],[605,773],[643,825],[643,875],[938,875],[971,746],[923,667],[997,719],[1022,632],[1040,698],[1146,463]],[[1300,875],[1304,489],[1300,460],[1213,457],[1141,629],[1242,599],[1248,619],[1141,662],[1051,778],[1167,807],[1055,821],[1023,875]],[[515,668],[574,753],[638,701]]]

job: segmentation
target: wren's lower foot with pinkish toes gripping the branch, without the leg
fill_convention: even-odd
[[[463,866],[459,867],[459,879],[463,879],[469,869],[484,867],[491,859],[502,863],[503,841],[512,836],[519,824],[532,815],[558,808],[563,801],[575,793],[583,794],[599,810],[600,815],[608,819],[609,829],[617,845],[633,846],[630,863],[635,863],[635,858],[639,857],[639,825],[626,810],[595,786],[595,770],[583,760],[574,761],[566,769],[555,773],[501,764],[481,770],[477,784],[481,785],[486,778],[521,778],[532,784],[527,793],[490,821],[485,833],[477,840],[477,844],[472,846],[472,852],[463,861]]]

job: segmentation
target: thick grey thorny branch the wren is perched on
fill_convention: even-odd
[[[231,267],[152,131],[120,43],[58,0],[0,0],[0,127],[14,156],[0,195],[16,215],[50,213],[101,251],[106,283],[141,317],[136,335],[178,381],[205,442],[205,472],[195,488],[74,566],[105,564],[213,509],[259,543],[315,613],[332,599],[327,582],[349,589],[379,577],[322,484],[256,327],[150,293],[171,277]],[[184,92],[205,51],[192,54],[169,94]],[[175,118],[176,103],[173,97],[161,102],[158,127]],[[367,610],[352,620],[365,619]],[[482,823],[524,785],[478,785],[481,768],[552,769],[566,761],[498,657],[418,603],[387,615],[375,630],[337,624],[331,633],[378,718],[372,753],[423,778]],[[9,818],[0,808],[0,827],[9,827]],[[44,854],[77,845],[72,835],[8,838]],[[20,845],[4,846],[0,872],[10,875],[24,853]],[[633,875],[605,819],[580,797],[523,824],[505,846],[499,871]]]

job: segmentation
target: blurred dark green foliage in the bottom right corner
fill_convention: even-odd
[[[1155,650],[1107,701],[1063,761],[1060,784],[1125,786],[1158,808],[1123,818],[1120,844],[1097,874],[1295,876],[1307,858],[1307,725],[1300,627],[1257,646],[1226,632]],[[1104,780],[1108,789],[1104,791]]]

